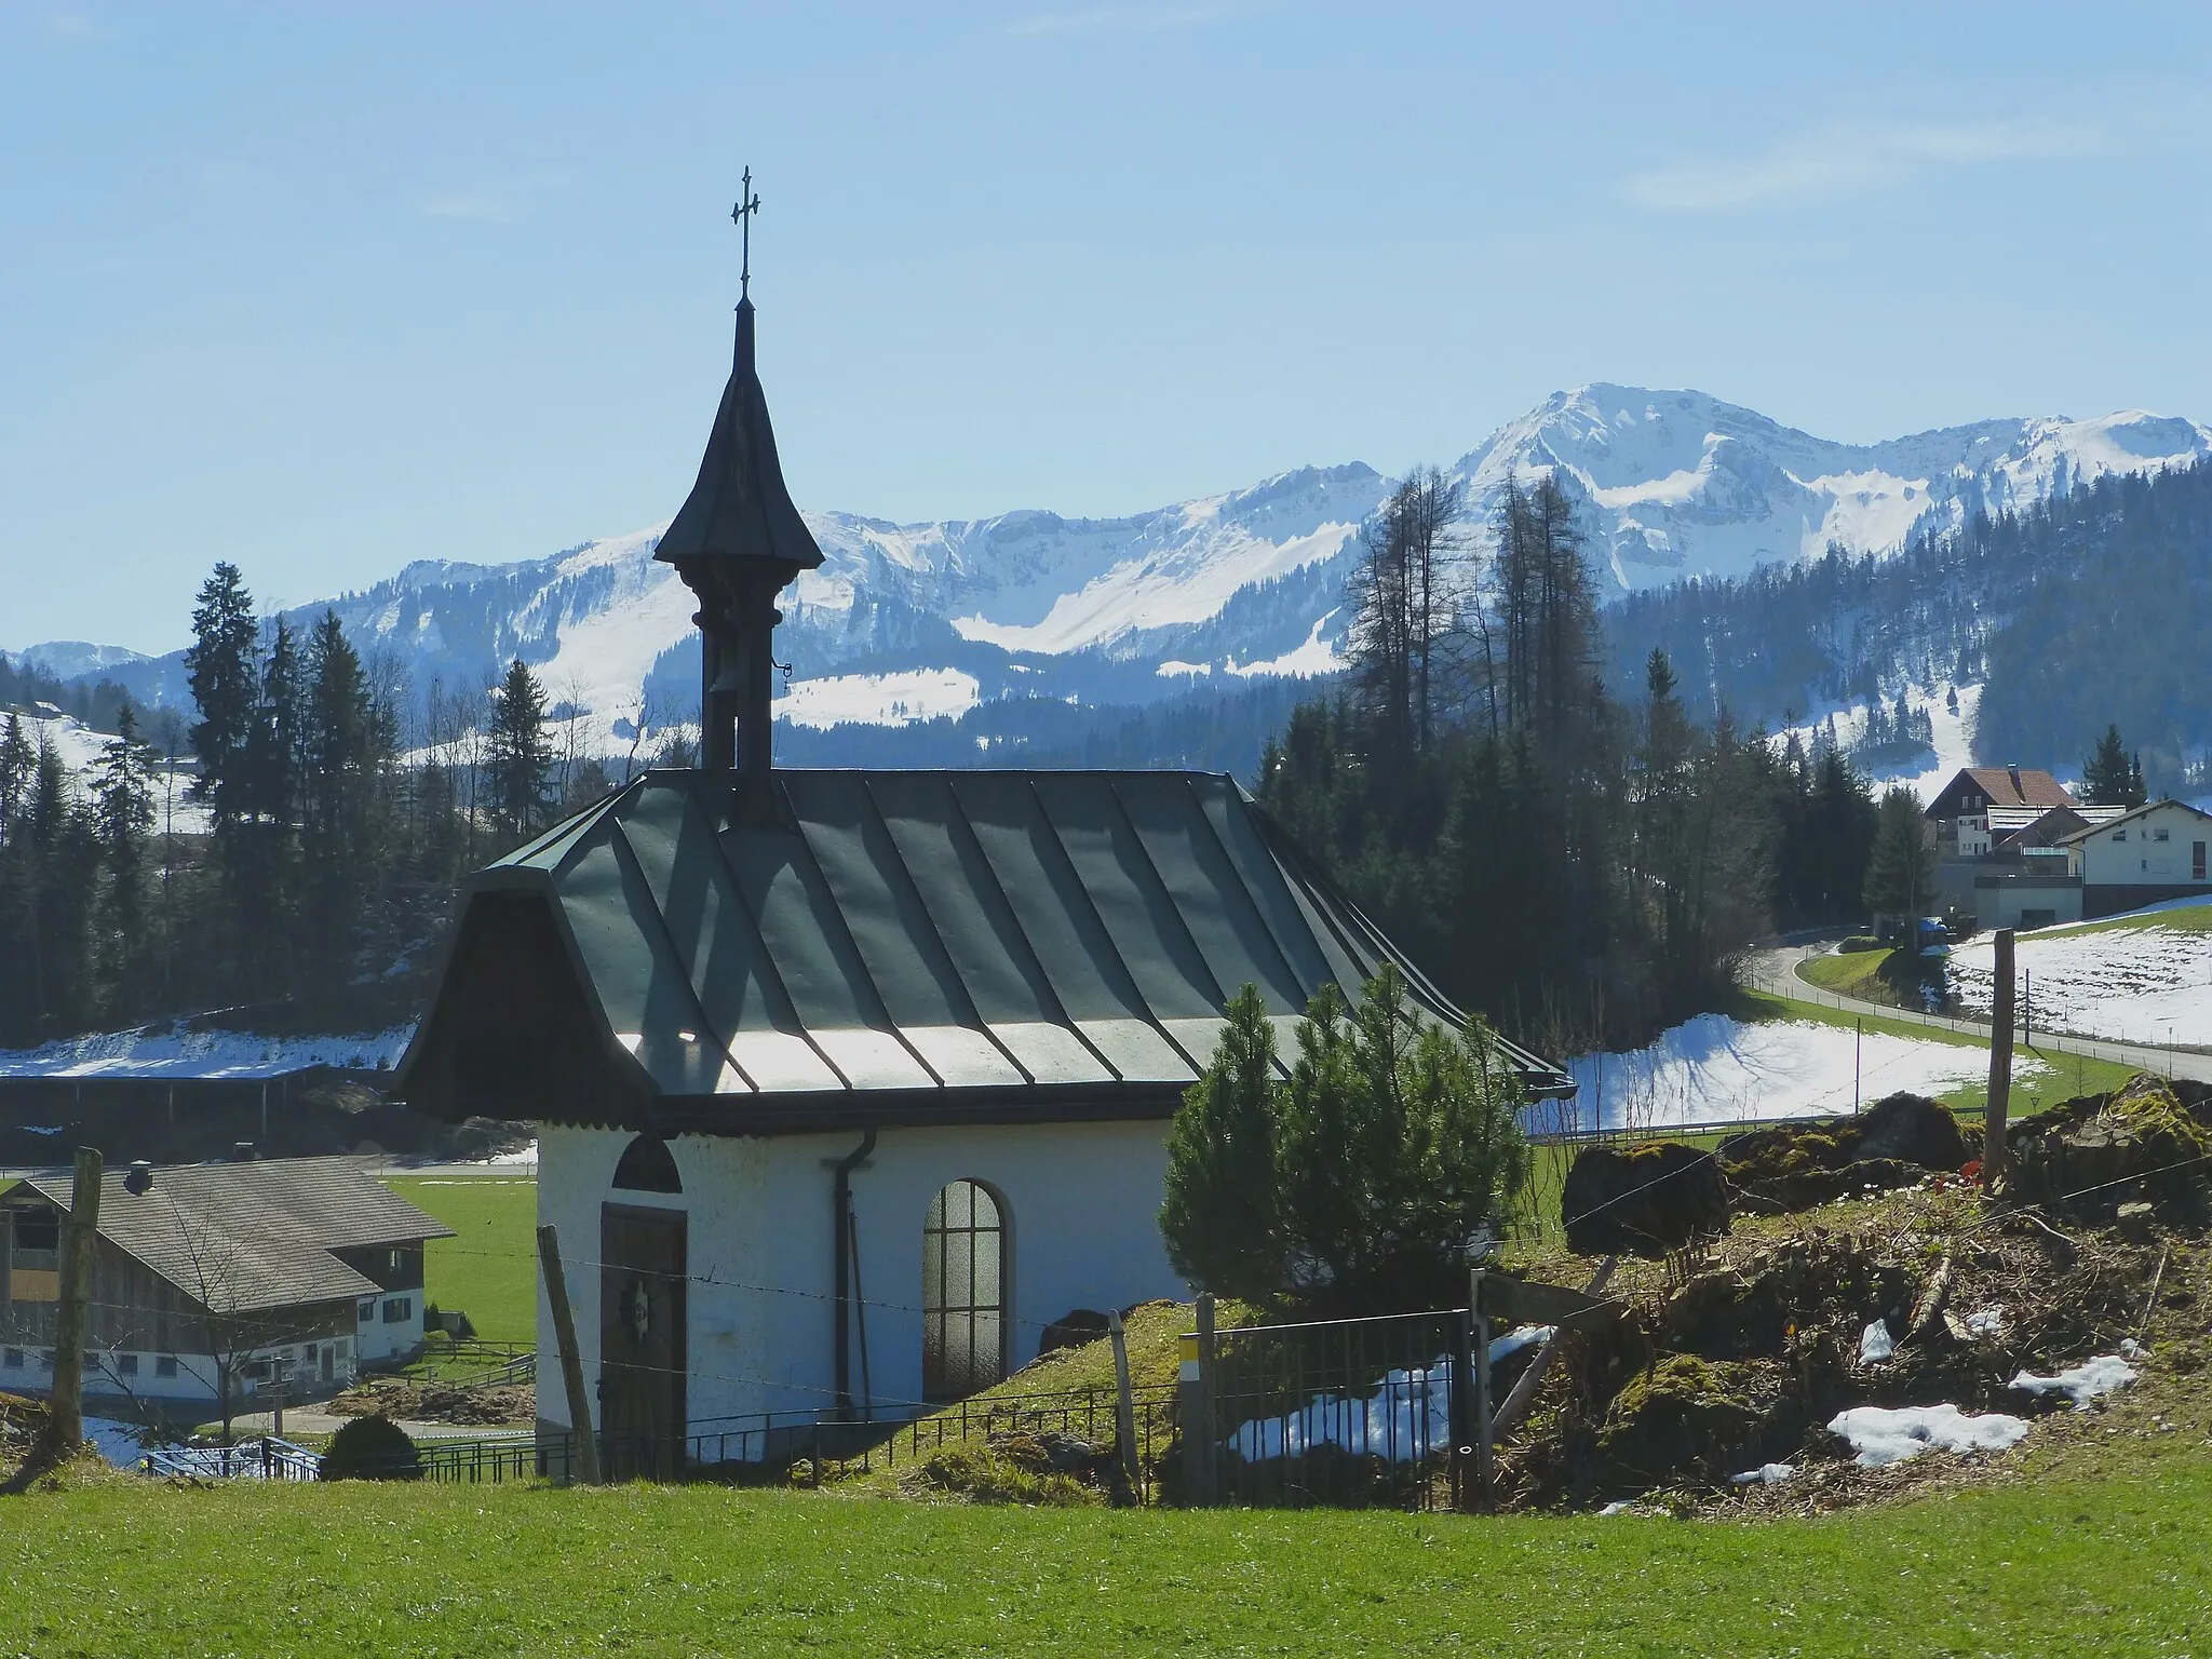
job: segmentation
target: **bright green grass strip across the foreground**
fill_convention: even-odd
[[[0,1553],[0,1652],[55,1657],[2179,1655],[2212,1460],[1763,1524],[102,1484]]]

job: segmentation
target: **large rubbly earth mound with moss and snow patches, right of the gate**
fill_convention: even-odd
[[[1688,1281],[1679,1259],[1637,1270],[1626,1318],[1562,1338],[1528,1429],[1500,1449],[1502,1498],[1717,1495],[1765,1462],[1840,1469],[1823,1425],[1858,1405],[2033,1411],[2011,1378],[2110,1352],[2159,1254],[1991,1214],[1966,1190],[1885,1197],[1851,1228],[1747,1228]]]

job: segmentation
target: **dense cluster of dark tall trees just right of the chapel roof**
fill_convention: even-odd
[[[1416,471],[1352,599],[1343,690],[1292,714],[1261,801],[1464,1006],[1553,1053],[1641,1042],[1725,1004],[1772,925],[1863,914],[1867,781],[1834,745],[1699,719],[1666,650],[1610,686],[1553,480],[1469,526]]]

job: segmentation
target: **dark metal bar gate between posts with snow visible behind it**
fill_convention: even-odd
[[[1455,1504],[1473,1438],[1464,1310],[1223,1329],[1199,1371],[1192,1502]]]

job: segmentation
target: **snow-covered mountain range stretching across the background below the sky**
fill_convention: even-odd
[[[1447,469],[1486,522],[1509,476],[1555,473],[1617,593],[1690,575],[1900,546],[1924,520],[2026,507],[2108,471],[2188,465],[2212,429],[2141,411],[1984,420],[1876,445],[1783,427],[1701,392],[1586,385]],[[825,562],[785,604],[781,699],[799,726],[898,726],[995,699],[1150,703],[1192,686],[1329,672],[1345,575],[1391,480],[1303,467],[1250,489],[1115,520],[1015,511],[891,524],[807,515]],[[476,697],[531,661],[599,750],[697,706],[692,599],[653,562],[661,526],[546,560],[422,560],[330,604],[418,692]],[[305,606],[319,613],[323,606]],[[102,670],[181,701],[177,655]]]

